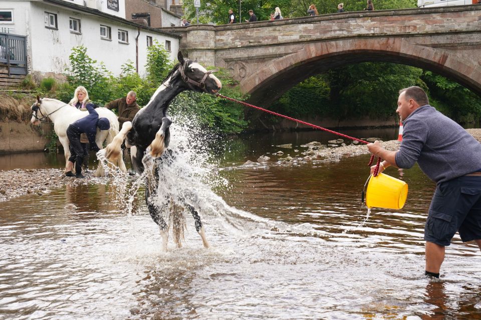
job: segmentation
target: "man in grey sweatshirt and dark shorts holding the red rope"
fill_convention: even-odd
[[[379,141],[367,147],[383,159],[379,172],[390,165],[408,169],[417,161],[436,182],[424,226],[425,274],[439,277],[445,246],[456,231],[463,242],[474,240],[481,249],[481,144],[431,107],[419,87],[400,90],[397,105],[403,124],[399,150],[388,151]]]

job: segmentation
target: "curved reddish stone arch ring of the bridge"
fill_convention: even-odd
[[[436,48],[416,46],[400,38],[349,39],[306,45],[276,59],[240,82],[251,100],[270,105],[303,80],[324,71],[362,62],[409,65],[450,78],[481,94],[481,70]],[[399,88],[401,89],[401,88]]]

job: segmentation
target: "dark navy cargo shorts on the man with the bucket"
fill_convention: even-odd
[[[463,242],[481,239],[481,176],[461,176],[436,186],[424,240],[447,246],[456,231]]]

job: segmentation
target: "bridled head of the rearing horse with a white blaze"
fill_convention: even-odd
[[[215,70],[207,71],[200,64],[184,59],[180,51],[177,59],[178,70],[187,90],[216,94],[222,88],[219,79],[212,74]]]

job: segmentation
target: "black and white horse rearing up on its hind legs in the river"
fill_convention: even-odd
[[[155,91],[149,103],[135,115],[132,120],[131,129],[129,128],[130,124],[125,123],[119,133],[121,138],[126,136],[126,145],[127,147],[131,147],[133,168],[139,174],[144,171],[142,158],[146,151],[150,152],[151,156],[156,158],[161,156],[169,145],[169,126],[172,121],[167,117],[167,109],[172,99],[184,90],[215,94],[222,87],[220,81],[211,74],[212,71],[207,71],[198,63],[184,59],[180,52],[177,58],[179,63],[172,69],[157,91]],[[112,145],[109,145],[107,148],[115,148],[118,150],[120,149],[120,144],[118,142],[115,143],[115,145],[112,143]],[[165,164],[163,161],[157,163],[160,165]],[[148,175],[147,180],[145,201],[152,219],[160,227],[162,245],[165,250],[167,248],[169,226],[162,217],[162,209],[165,208],[161,208],[157,204],[155,194],[153,194],[159,184],[158,171],[155,170],[153,175]],[[182,203],[182,200],[183,199],[171,199],[169,200],[171,201],[170,206],[181,206],[190,211],[195,221],[195,229],[200,234],[204,247],[208,247],[202,222],[197,211],[185,201]],[[180,246],[178,240],[174,235],[174,241],[177,242],[177,246]]]

